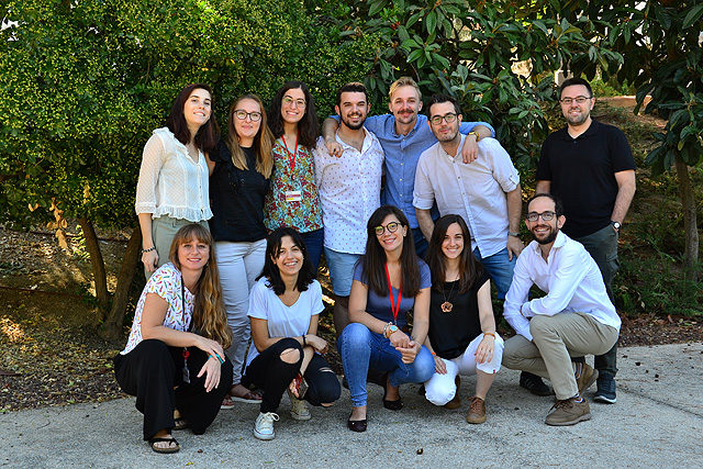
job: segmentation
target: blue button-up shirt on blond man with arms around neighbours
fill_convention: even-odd
[[[477,125],[487,126],[491,130],[491,136],[495,136],[493,127],[486,122],[462,122],[459,132],[468,134]],[[398,206],[408,216],[410,227],[419,227],[413,206],[415,169],[420,155],[437,143],[437,138],[427,125],[427,116],[419,114],[415,126],[408,135],[395,133],[393,114],[370,116],[364,126],[376,134],[386,156],[386,189],[381,194],[381,203]],[[436,208],[433,209],[432,215],[433,219],[438,216]]]

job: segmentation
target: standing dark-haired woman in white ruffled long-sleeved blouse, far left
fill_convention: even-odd
[[[178,228],[189,223],[208,226],[205,157],[217,142],[212,90],[194,83],[176,97],[166,126],[154,131],[144,146],[135,211],[142,228],[142,263],[148,277],[168,261]]]

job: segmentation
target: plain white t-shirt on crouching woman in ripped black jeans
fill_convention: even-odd
[[[266,287],[268,279],[261,277],[249,292],[249,317],[268,321],[269,337],[300,337],[308,334],[310,317],[324,311],[322,304],[322,287],[317,280],[308,286],[308,290],[300,293],[292,306],[287,306]],[[249,347],[246,366],[259,355],[254,342]],[[245,367],[246,368],[246,367]]]

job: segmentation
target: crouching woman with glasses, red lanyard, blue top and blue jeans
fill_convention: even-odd
[[[366,253],[354,269],[349,295],[350,324],[337,348],[349,383],[353,411],[347,427],[365,432],[366,378],[369,366],[384,371],[383,406],[399,411],[399,387],[424,382],[435,370],[423,346],[429,326],[429,268],[415,255],[408,219],[392,205],[377,209],[367,223]],[[413,308],[413,331],[408,310]]]

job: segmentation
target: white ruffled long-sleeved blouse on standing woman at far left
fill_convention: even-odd
[[[152,219],[210,220],[209,178],[201,150],[196,163],[168,127],[157,129],[144,146],[134,210]]]

